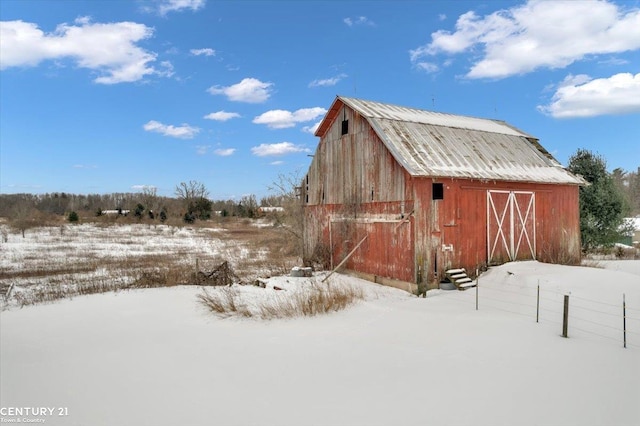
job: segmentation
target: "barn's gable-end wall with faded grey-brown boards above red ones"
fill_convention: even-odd
[[[320,140],[303,181],[305,256],[328,249],[337,265],[368,235],[346,267],[415,282],[413,224],[406,219],[413,203],[406,197],[406,179],[368,122],[345,108]]]

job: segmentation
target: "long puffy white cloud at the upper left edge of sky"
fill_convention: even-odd
[[[0,69],[36,66],[45,60],[70,58],[81,68],[97,71],[101,84],[138,81],[157,74],[151,66],[156,54],[136,43],[151,37],[153,29],[135,22],[60,24],[45,34],[37,24],[0,22]]]

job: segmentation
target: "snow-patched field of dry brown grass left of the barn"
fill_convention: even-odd
[[[194,284],[198,271],[228,260],[239,280],[281,275],[297,265],[273,227],[252,222],[197,226],[122,224],[33,228],[23,238],[0,224],[0,291],[7,305],[51,302],[129,288]],[[6,238],[5,238],[6,235]]]

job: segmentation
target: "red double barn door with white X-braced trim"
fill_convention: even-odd
[[[496,205],[493,194],[507,194],[507,201]],[[519,197],[518,197],[519,196]],[[520,201],[518,200],[520,198]],[[521,203],[524,201],[524,203]],[[525,206],[526,205],[526,206]],[[523,209],[525,208],[526,209]],[[495,237],[491,233],[492,219],[497,226]],[[505,219],[508,219],[505,223]],[[502,245],[500,245],[502,243]],[[487,257],[491,263],[496,247],[504,248],[509,260],[516,260],[520,247],[529,249],[531,259],[536,258],[536,194],[532,191],[487,191]]]

